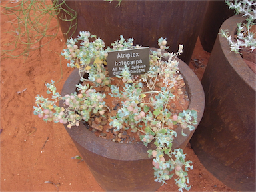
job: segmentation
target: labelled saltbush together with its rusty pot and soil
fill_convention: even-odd
[[[187,171],[193,165],[185,161],[182,148],[203,115],[203,89],[191,70],[179,72],[182,61],[177,55],[182,53],[182,45],[177,53],[165,52],[166,39],[160,38],[158,45],[159,49],[148,53],[148,63],[143,63],[137,58],[142,48],[133,45],[133,39],[125,41],[121,35],[112,48],[104,49],[101,39],[81,31],[77,39],[67,41],[67,49],[61,53],[70,61],[69,67],[77,68],[65,82],[62,93],[57,92],[52,81],[46,83],[52,100],[36,97],[34,114],[44,121],[65,125],[95,179],[106,191],[154,191],[173,175],[179,191],[191,187]],[[109,77],[107,57],[111,53],[123,54],[117,58],[128,59],[116,64],[122,65],[116,67],[119,69],[116,77]],[[189,69],[186,67],[183,63],[181,70]],[[193,82],[186,85],[190,80]],[[174,110],[171,109],[174,101],[188,105],[180,111]],[[91,127],[93,132],[105,131],[105,135],[118,131],[119,138],[102,139],[105,135],[97,137],[89,131]],[[128,131],[139,135],[140,141],[122,143],[127,137],[120,135]],[[152,182],[153,177],[156,183]]]

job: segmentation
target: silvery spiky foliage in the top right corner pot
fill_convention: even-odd
[[[237,37],[235,41],[232,39],[232,34],[229,35],[227,30],[221,29],[220,34],[227,39],[231,51],[239,53],[242,47],[249,47],[253,51],[256,47],[256,39],[254,33],[251,31],[251,26],[256,19],[256,1],[243,0],[243,1],[225,1],[229,9],[235,9],[236,14],[243,14],[246,17],[246,23],[237,23]]]

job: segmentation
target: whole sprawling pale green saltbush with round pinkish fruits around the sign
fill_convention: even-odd
[[[166,183],[173,175],[179,191],[189,190],[188,169],[193,169],[191,161],[185,161],[185,154],[182,149],[172,149],[173,139],[177,133],[173,130],[174,125],[181,124],[182,129],[193,130],[197,124],[197,111],[184,110],[179,114],[170,111],[168,105],[175,96],[171,88],[182,77],[179,71],[177,55],[180,55],[183,46],[179,46],[177,53],[164,52],[167,47],[166,39],[160,38],[159,49],[152,51],[150,55],[149,71],[139,77],[133,77],[129,68],[125,65],[118,78],[121,78],[124,86],[111,85],[111,78],[108,77],[106,58],[109,51],[134,49],[140,46],[133,45],[133,39],[125,41],[123,36],[119,41],[112,44],[112,48],[104,49],[104,42],[91,35],[89,32],[80,32],[77,39],[67,41],[67,49],[61,53],[69,60],[69,67],[77,67],[81,81],[93,82],[96,87],[109,86],[111,97],[121,100],[121,108],[111,117],[111,125],[115,131],[120,129],[131,129],[132,132],[141,132],[141,141],[145,146],[153,142],[154,150],[149,150],[149,157],[153,156],[153,169],[155,170],[155,181]],[[95,39],[94,41],[89,41]],[[80,46],[77,45],[80,43]],[[163,57],[167,59],[163,59]],[[86,79],[85,73],[89,74]],[[163,87],[155,89],[158,79],[163,80]],[[147,85],[146,89],[143,87]],[[77,92],[71,95],[61,95],[56,91],[54,81],[46,83],[47,93],[51,93],[52,100],[37,95],[37,107],[34,107],[34,114],[43,118],[44,121],[79,126],[79,121],[89,121],[92,114],[105,115],[111,111],[104,99],[105,94],[97,92],[89,83],[79,83]],[[145,98],[148,98],[145,100]],[[57,106],[58,101],[65,103],[64,107]],[[182,135],[186,136],[182,131]],[[174,173],[171,173],[174,171]]]

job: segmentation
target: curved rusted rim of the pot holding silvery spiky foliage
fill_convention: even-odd
[[[222,25],[220,29],[229,31],[229,34],[232,35],[232,39],[234,41],[234,35],[237,31],[237,23],[245,22],[245,17],[241,15],[234,15],[227,19]],[[248,67],[248,65],[243,61],[243,58],[240,54],[234,53],[230,51],[229,43],[225,37],[222,37],[221,34],[218,35],[218,39],[221,45],[221,49],[229,61],[231,67],[237,72],[237,74],[245,81],[252,89],[256,91],[256,75],[253,71]]]

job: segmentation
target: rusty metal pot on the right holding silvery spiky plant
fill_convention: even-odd
[[[235,15],[221,29],[235,34],[244,20]],[[208,171],[236,191],[255,191],[255,82],[241,55],[218,35],[201,81],[205,113],[191,146]]]

